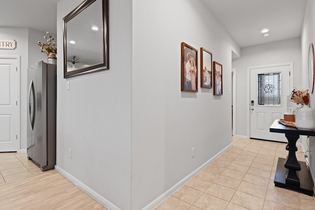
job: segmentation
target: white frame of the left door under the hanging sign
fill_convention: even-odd
[[[18,104],[17,104],[17,108],[18,108],[18,137],[17,137],[17,148],[16,151],[17,152],[21,152],[21,95],[20,95],[20,90],[21,90],[21,62],[20,62],[20,56],[4,56],[4,55],[0,55],[0,59],[15,59],[17,61],[17,73],[18,73]],[[24,151],[23,151],[24,152]],[[25,151],[26,152],[26,151]]]

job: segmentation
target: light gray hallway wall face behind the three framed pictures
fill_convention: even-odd
[[[133,0],[132,23],[131,209],[139,210],[231,144],[227,92],[231,51],[240,49],[200,0]],[[181,42],[223,65],[222,96],[199,82],[198,92],[181,91]]]

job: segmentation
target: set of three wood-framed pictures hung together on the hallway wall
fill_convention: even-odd
[[[201,88],[213,88],[214,95],[222,95],[222,64],[212,61],[212,53],[201,47],[200,77],[198,79],[198,50],[182,42],[181,90],[198,92],[198,80]]]

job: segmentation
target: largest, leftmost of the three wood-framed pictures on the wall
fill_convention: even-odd
[[[182,42],[181,54],[181,90],[198,92],[198,51]]]

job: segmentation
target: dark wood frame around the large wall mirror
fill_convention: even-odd
[[[67,61],[72,59],[72,57],[68,58],[67,56],[67,32],[70,33],[70,31],[67,31],[67,23],[70,20],[78,19],[80,16],[80,12],[84,11],[86,8],[88,8],[91,4],[93,4],[95,1],[101,1],[102,3],[102,52],[96,52],[97,54],[102,54],[102,61],[93,63],[93,64],[88,64],[83,67],[79,68],[74,68],[71,70],[68,70],[67,67]],[[93,16],[94,14],[91,14]],[[81,30],[81,29],[80,29]],[[85,30],[82,27],[82,30]],[[89,39],[89,37],[82,37],[82,39]],[[64,78],[69,78],[69,77],[74,77],[74,76],[79,76],[82,74],[87,74],[87,73],[93,73],[96,71],[101,71],[101,70],[107,70],[109,69],[108,61],[109,61],[109,56],[108,56],[108,0],[84,0],[80,5],[78,5],[75,9],[73,9],[69,14],[67,14],[63,18],[63,77]],[[86,54],[89,54],[89,52],[86,52]]]

